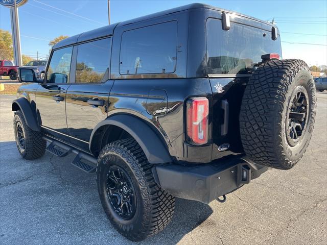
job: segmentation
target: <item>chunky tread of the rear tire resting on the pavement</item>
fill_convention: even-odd
[[[152,165],[148,162],[139,144],[132,138],[111,142],[104,146],[100,159],[107,153],[115,152],[130,164],[141,189],[144,215],[143,224],[137,233],[123,235],[134,241],[141,241],[163,230],[173,217],[175,197],[161,189],[154,181]],[[97,165],[97,171],[99,166]],[[98,176],[98,175],[97,175]],[[114,224],[115,225],[115,224]],[[119,227],[118,230],[120,231]]]

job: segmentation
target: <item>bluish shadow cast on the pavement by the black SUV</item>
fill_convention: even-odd
[[[74,157],[57,158],[46,152],[28,161],[19,155],[15,141],[0,142],[4,244],[95,244],[95,237],[100,243],[135,244],[110,224],[100,204],[96,176],[73,166]],[[176,199],[166,229],[138,244],[176,244],[212,213],[208,205]]]

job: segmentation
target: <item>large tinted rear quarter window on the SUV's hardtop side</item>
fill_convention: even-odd
[[[172,73],[176,50],[176,21],[126,31],[122,35],[120,74]]]

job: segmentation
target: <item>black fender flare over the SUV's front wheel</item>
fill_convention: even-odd
[[[22,114],[24,115],[27,126],[29,126],[29,128],[33,131],[40,131],[40,127],[37,124],[37,120],[35,114],[32,111],[31,104],[27,99],[22,97],[17,100],[14,100],[11,104],[11,110],[21,110]]]

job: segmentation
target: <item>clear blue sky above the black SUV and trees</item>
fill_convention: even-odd
[[[327,65],[327,1],[323,0],[111,0],[111,23],[190,3],[205,3],[263,20],[275,17],[283,41],[283,58],[303,59],[309,65]],[[39,56],[44,57],[49,53],[49,40],[59,35],[72,36],[107,24],[107,1],[29,0],[19,8],[19,22],[22,53],[35,57],[38,51]],[[3,6],[0,6],[0,28],[11,32],[10,12]]]

